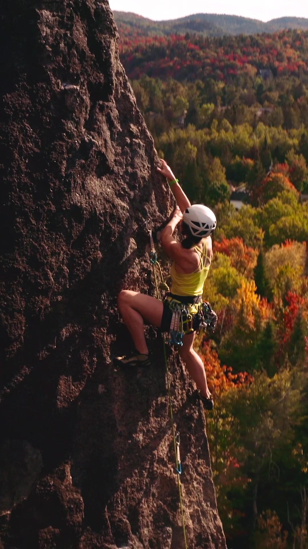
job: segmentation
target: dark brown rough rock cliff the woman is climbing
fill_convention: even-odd
[[[3,2],[0,31],[0,444],[14,478],[0,546],[181,549],[159,334],[147,328],[148,371],[112,367],[129,348],[117,294],[153,292],[145,220],[173,203],[109,5]],[[178,358],[170,382],[187,546],[224,549],[204,413]]]

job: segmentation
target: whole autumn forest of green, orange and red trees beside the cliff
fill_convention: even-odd
[[[219,322],[198,346],[228,547],[306,549],[308,33],[140,37],[122,61],[159,154],[218,220]]]

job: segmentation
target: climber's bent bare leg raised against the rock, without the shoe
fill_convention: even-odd
[[[135,348],[140,354],[148,355],[144,320],[159,328],[162,322],[163,302],[151,295],[122,290],[118,296],[118,307],[124,323],[132,335]]]

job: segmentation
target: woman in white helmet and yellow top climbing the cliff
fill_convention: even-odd
[[[207,206],[190,204],[166,161],[161,160],[161,167],[158,168],[158,171],[167,177],[178,204],[172,219],[161,233],[162,247],[173,260],[170,270],[172,287],[168,299],[164,301],[159,301],[150,295],[132,292],[132,290],[122,290],[119,293],[119,311],[132,335],[135,350],[128,356],[115,358],[114,362],[126,368],[150,366],[144,321],[161,328],[162,332],[169,332],[173,315],[169,306],[170,300],[174,299],[185,305],[202,302],[203,284],[207,278],[213,256],[210,234],[216,227],[214,213]],[[177,242],[173,236],[178,223],[181,224],[180,230],[184,237],[181,243]],[[195,324],[193,329],[197,328],[198,326]],[[204,407],[207,410],[212,410],[214,402],[208,389],[204,365],[192,347],[195,334],[196,331],[193,331],[184,335],[183,344],[179,347],[179,354],[197,385],[198,396]]]

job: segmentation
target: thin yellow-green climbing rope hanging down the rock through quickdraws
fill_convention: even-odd
[[[149,219],[146,221],[146,230],[147,230],[147,232],[149,232],[149,236],[150,236],[150,243],[151,243],[150,261],[151,261],[151,264],[153,266],[153,275],[154,275],[154,279],[155,279],[157,299],[160,299],[158,281],[157,281],[157,276],[156,276],[156,271],[155,271],[155,265],[158,265],[158,268],[159,268],[159,273],[161,275],[161,284],[160,285],[161,285],[162,289],[166,289],[166,288],[164,288],[164,286],[166,287],[167,284],[163,281],[163,273],[162,273],[162,270],[161,270],[161,266],[159,265],[159,263],[157,261],[157,253],[156,253],[155,247],[154,247],[151,222],[150,222]],[[167,286],[167,288],[168,288],[168,286]],[[168,288],[168,290],[169,290],[169,288]],[[170,413],[170,419],[171,419],[171,425],[172,425],[173,444],[174,444],[175,470],[176,470],[176,473],[178,473],[177,477],[178,477],[180,509],[181,509],[181,516],[182,516],[182,525],[183,525],[185,549],[188,549],[187,540],[186,540],[184,506],[183,506],[183,502],[182,502],[182,485],[181,485],[181,481],[180,481],[180,474],[182,473],[181,458],[180,458],[180,433],[178,431],[175,432],[175,427],[174,427],[172,399],[171,399],[171,390],[170,390],[170,381],[169,381],[169,370],[168,370],[168,360],[167,360],[167,353],[166,353],[166,340],[164,338],[164,334],[162,334],[162,339],[163,339],[164,361],[165,361],[165,367],[166,367],[169,413]]]

